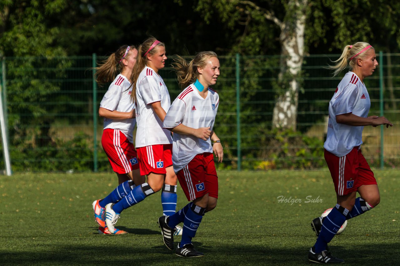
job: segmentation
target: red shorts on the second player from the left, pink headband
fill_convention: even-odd
[[[140,175],[167,173],[165,168],[172,166],[172,144],[158,144],[137,149]]]

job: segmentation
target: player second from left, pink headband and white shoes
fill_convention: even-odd
[[[162,121],[170,108],[168,89],[158,74],[165,66],[164,43],[148,38],[138,48],[138,60],[132,71],[131,98],[136,101],[136,148],[140,174],[147,175],[143,183],[129,191],[123,200],[106,205],[106,225],[109,230],[120,217],[121,211],[139,203],[162,189],[161,202],[164,215],[175,213],[177,178],[172,168],[172,138]]]

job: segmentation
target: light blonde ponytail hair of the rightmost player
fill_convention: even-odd
[[[339,59],[336,61],[336,65],[330,65],[327,68],[328,69],[333,69],[333,76],[335,77],[345,69],[347,66],[349,67],[350,70],[354,68],[356,65],[356,59],[361,58],[364,59],[368,55],[368,53],[365,53],[369,48],[374,49],[369,43],[366,43],[364,41],[359,41],[353,45],[346,45],[343,49],[342,55],[340,55]]]

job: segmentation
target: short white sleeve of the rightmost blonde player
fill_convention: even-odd
[[[337,93],[339,95],[332,103],[332,108],[335,112],[335,116],[351,113],[354,108],[354,102],[356,101],[358,95],[357,86],[349,84],[343,89],[342,92],[338,91]]]

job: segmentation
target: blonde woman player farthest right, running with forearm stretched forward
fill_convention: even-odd
[[[324,219],[318,217],[311,223],[318,238],[308,253],[308,260],[318,263],[344,262],[326,250],[327,244],[344,221],[369,211],[380,202],[374,173],[361,153],[364,126],[393,126],[383,116],[368,116],[371,102],[364,78],[372,75],[378,65],[375,49],[366,42],[346,45],[334,62],[336,65],[330,67],[335,70],[334,76],[348,65],[350,71],[329,102],[324,157],[335,186],[337,204]]]

